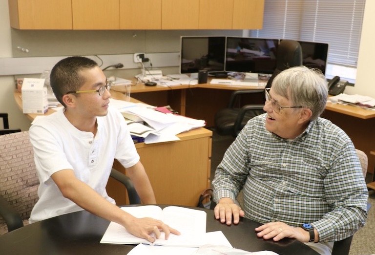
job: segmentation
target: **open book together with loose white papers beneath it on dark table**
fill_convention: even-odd
[[[221,231],[206,233],[207,215],[204,211],[178,206],[167,206],[162,210],[156,205],[122,207],[121,209],[137,218],[160,219],[181,234],[170,234],[166,240],[164,232],[161,232],[159,239],[150,243],[146,239],[130,234],[123,226],[111,222],[100,241],[101,243],[141,244],[131,251],[131,254],[134,255],[190,255],[204,244],[225,245],[232,248]]]

